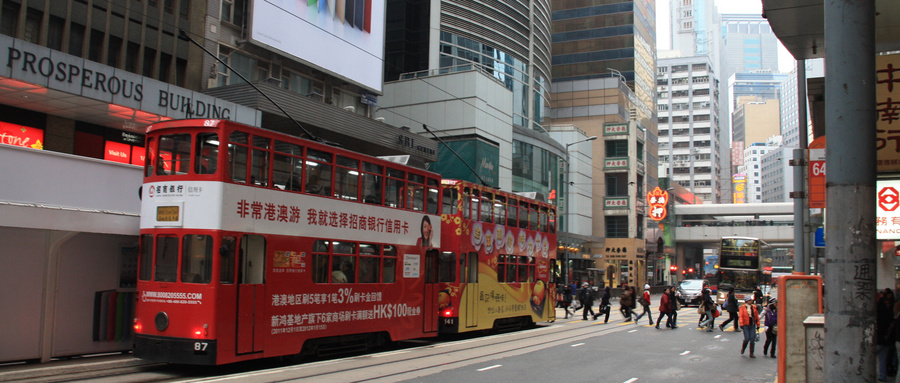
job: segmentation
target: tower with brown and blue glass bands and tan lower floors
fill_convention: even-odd
[[[553,3],[551,116],[601,138],[592,141],[591,233],[605,239],[591,247],[611,286],[643,284],[656,246],[645,203],[647,188],[658,185],[654,7]]]

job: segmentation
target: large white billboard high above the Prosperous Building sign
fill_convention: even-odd
[[[381,93],[385,0],[256,0],[250,39]]]

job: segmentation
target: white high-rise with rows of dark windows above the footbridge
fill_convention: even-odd
[[[719,201],[719,80],[709,57],[661,59],[656,81],[660,168],[694,195]]]

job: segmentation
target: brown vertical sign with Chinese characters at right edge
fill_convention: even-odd
[[[877,168],[879,173],[896,172],[900,170],[900,55],[877,56],[875,65]]]

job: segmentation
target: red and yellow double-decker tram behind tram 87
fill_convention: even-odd
[[[440,332],[554,320],[555,206],[466,181],[442,184]]]

